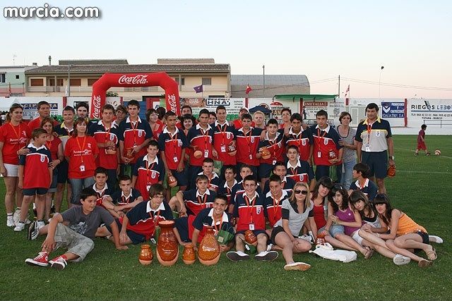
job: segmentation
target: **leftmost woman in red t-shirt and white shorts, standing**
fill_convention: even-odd
[[[6,193],[6,226],[14,227],[19,221],[22,189],[18,188],[19,155],[27,154],[31,132],[22,121],[23,107],[13,104],[6,114],[6,123],[0,127],[0,173],[4,177]],[[16,198],[16,211],[14,199]]]

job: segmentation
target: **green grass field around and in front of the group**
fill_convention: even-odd
[[[284,260],[230,262],[224,254],[215,266],[138,263],[140,246],[117,251],[96,239],[95,249],[79,264],[63,271],[37,268],[25,259],[40,251],[44,237],[32,242],[26,233],[6,228],[0,216],[1,300],[450,300],[452,285],[452,136],[428,136],[431,150],[441,156],[415,157],[415,136],[396,136],[397,175],[387,180],[393,205],[402,209],[444,244],[434,245],[438,259],[427,269],[415,262],[396,266],[375,254],[348,264],[297,254],[295,261],[311,264],[308,271],[284,271]],[[1,181],[1,195],[4,183]],[[57,251],[58,252],[58,251]],[[61,252],[61,250],[59,250]],[[55,253],[55,254],[59,254]],[[154,248],[155,252],[155,248]],[[181,254],[182,256],[182,254]],[[422,253],[421,256],[424,256]]]

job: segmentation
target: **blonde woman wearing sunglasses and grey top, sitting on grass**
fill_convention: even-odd
[[[276,221],[271,231],[271,241],[283,249],[286,271],[306,271],[311,266],[304,262],[295,262],[293,253],[308,252],[311,243],[298,238],[306,221],[315,223],[313,214],[313,202],[310,200],[307,183],[296,183],[290,198],[283,199],[281,218]]]

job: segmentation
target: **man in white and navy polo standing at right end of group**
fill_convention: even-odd
[[[355,136],[358,162],[369,166],[371,180],[375,178],[379,192],[386,193],[384,178],[388,176],[388,164],[396,167],[391,125],[379,118],[377,104],[368,104],[366,113],[367,118],[358,124]]]

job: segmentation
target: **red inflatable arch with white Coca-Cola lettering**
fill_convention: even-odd
[[[179,86],[165,72],[159,73],[105,73],[93,84],[90,118],[100,119],[100,109],[110,87],[153,87],[165,90],[167,111],[180,115]]]

